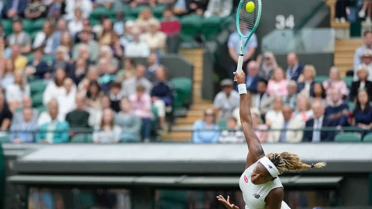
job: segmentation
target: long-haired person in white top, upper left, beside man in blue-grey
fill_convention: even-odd
[[[45,54],[53,53],[53,33],[54,26],[51,22],[47,21],[43,25],[43,30],[36,34],[35,40],[33,41],[32,48],[44,48]]]

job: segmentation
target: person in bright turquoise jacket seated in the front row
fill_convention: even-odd
[[[56,100],[51,100],[48,104],[48,112],[52,119],[49,123],[44,123],[40,126],[39,134],[36,137],[36,142],[45,144],[64,143],[68,141],[68,122],[60,122],[57,120],[58,105]]]

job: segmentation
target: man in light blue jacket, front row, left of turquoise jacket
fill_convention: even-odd
[[[29,107],[22,110],[23,121],[12,124],[10,128],[10,141],[16,144],[25,142],[34,142],[35,132],[38,130],[38,124],[33,121],[33,112]]]

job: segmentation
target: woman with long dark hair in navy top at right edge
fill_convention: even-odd
[[[369,104],[369,96],[366,90],[359,90],[355,109],[353,110],[352,125],[364,131],[364,134],[372,132],[372,108]]]

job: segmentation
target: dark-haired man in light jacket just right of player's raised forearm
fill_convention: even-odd
[[[263,117],[267,113],[267,111],[273,109],[273,103],[275,99],[275,97],[270,96],[266,93],[266,88],[267,80],[259,79],[257,81],[257,94],[252,96],[251,101],[251,107],[257,107]]]

